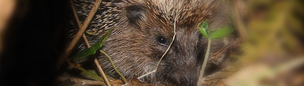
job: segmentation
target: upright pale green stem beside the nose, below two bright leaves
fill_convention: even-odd
[[[202,81],[202,78],[203,78],[203,75],[204,75],[204,72],[205,72],[205,68],[206,68],[206,65],[207,65],[207,60],[208,60],[208,57],[209,57],[210,44],[211,44],[211,39],[208,38],[208,45],[207,45],[208,47],[207,47],[204,62],[203,62],[203,65],[202,65],[202,69],[199,72],[200,74],[199,74],[199,80],[197,81],[197,86],[201,86],[201,84],[202,84],[201,81]]]

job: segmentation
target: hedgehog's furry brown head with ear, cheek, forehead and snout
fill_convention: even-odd
[[[163,57],[157,72],[142,80],[172,80],[180,86],[193,86],[197,81],[205,54],[206,39],[197,24],[208,19],[216,27],[220,17],[214,16],[218,0],[131,0],[122,6],[114,30],[102,48],[116,68],[128,79],[151,72]],[[212,5],[211,5],[211,4]],[[111,4],[112,5],[112,4]],[[107,5],[105,5],[107,6]],[[177,17],[176,20],[174,17]],[[217,17],[217,18],[214,18]],[[213,19],[212,19],[213,18]],[[211,45],[213,47],[217,47]],[[212,51],[216,48],[212,48]],[[98,57],[102,68],[116,75],[106,58]]]

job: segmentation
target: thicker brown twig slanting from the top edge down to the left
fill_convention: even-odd
[[[78,30],[78,32],[76,33],[76,35],[73,38],[73,40],[70,42],[70,44],[68,45],[68,47],[65,49],[65,53],[63,53],[63,55],[57,61],[57,64],[55,66],[56,69],[59,69],[59,67],[65,61],[65,59],[71,54],[71,50],[74,48],[74,46],[76,45],[76,43],[79,41],[79,38],[85,32],[85,29],[90,24],[92,18],[94,17],[96,11],[99,8],[99,5],[100,5],[101,2],[102,2],[102,0],[96,0],[95,1],[94,5],[93,5],[93,7],[91,9],[91,11],[89,12],[89,14],[88,14],[87,18],[85,19],[84,23],[82,24],[81,28]]]

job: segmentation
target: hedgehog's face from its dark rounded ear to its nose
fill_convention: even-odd
[[[155,4],[153,1],[147,3]],[[200,23],[199,21],[203,20],[203,18],[197,16],[199,13],[193,13],[196,16],[191,18],[199,20],[188,20],[178,11],[172,10],[176,8],[164,8],[146,4],[130,4],[125,8],[128,29],[130,29],[128,33],[132,36],[130,41],[136,44],[129,47],[132,50],[134,48],[139,49],[135,50],[137,54],[133,55],[133,57],[138,56],[145,60],[144,63],[150,63],[145,66],[139,66],[143,67],[142,69],[145,70],[142,71],[146,72],[140,72],[137,75],[143,75],[150,72],[147,70],[154,69],[172,41],[175,21],[173,18],[178,15],[179,21],[176,20],[177,35],[171,48],[161,61],[158,67],[159,70],[146,78],[151,78],[152,80],[156,77],[160,80],[169,78],[182,86],[194,85],[200,69],[201,56],[205,50],[205,40],[196,28],[196,24]]]

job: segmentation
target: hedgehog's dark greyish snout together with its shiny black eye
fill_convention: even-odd
[[[196,28],[191,27],[180,27],[176,30],[176,33],[171,48],[159,66],[159,69],[161,69],[159,72],[181,86],[194,86],[200,69],[201,56],[203,56],[205,49],[202,37]],[[155,54],[152,58],[161,58],[172,41],[172,37],[173,35],[155,37],[157,42],[153,47]]]

